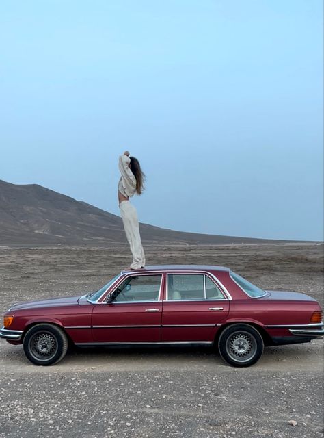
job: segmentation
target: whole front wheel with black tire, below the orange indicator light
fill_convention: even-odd
[[[54,365],[66,355],[68,338],[57,326],[37,324],[27,331],[23,348],[27,359],[35,365]]]

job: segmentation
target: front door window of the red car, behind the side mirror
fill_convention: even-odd
[[[157,301],[162,275],[137,275],[127,277],[116,289],[113,302]]]

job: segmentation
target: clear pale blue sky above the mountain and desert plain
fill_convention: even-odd
[[[0,179],[140,222],[323,240],[322,0],[3,0]]]

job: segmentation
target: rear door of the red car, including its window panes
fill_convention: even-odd
[[[229,301],[206,274],[167,274],[163,342],[213,342]]]

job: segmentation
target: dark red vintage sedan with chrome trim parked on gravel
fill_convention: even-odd
[[[25,302],[4,315],[0,337],[23,344],[36,365],[75,346],[217,346],[235,367],[264,346],[310,342],[324,333],[314,298],[262,290],[220,266],[149,266],[122,271],[83,296]]]

